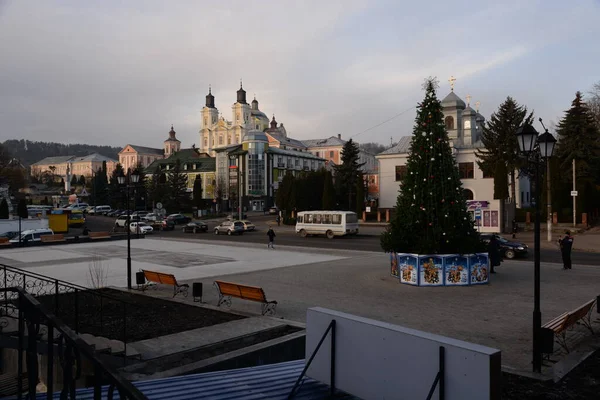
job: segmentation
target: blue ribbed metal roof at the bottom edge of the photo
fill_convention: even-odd
[[[258,367],[139,381],[133,382],[133,385],[150,400],[284,400],[290,394],[303,368],[304,360],[296,360]],[[106,398],[107,389],[107,386],[102,388],[102,398]],[[92,400],[94,389],[79,389],[76,397],[82,400]],[[39,398],[42,398],[41,394]],[[43,394],[43,398],[46,398],[46,393]],[[58,400],[59,398],[60,393],[55,393],[54,399]],[[294,398],[298,400],[328,399],[329,386],[305,377]],[[336,399],[358,400],[354,396],[339,391]]]

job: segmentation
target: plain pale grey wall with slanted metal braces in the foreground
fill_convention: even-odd
[[[427,290],[427,289],[424,289]],[[447,400],[500,399],[500,350],[325,308],[306,318],[306,360],[330,322],[335,328],[335,386],[362,399],[425,399],[445,352]],[[307,375],[330,384],[331,334]],[[439,398],[439,386],[433,398]]]

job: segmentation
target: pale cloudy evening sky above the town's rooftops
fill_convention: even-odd
[[[429,76],[557,122],[600,82],[598,21],[600,0],[0,0],[0,140],[162,147],[173,124],[199,146],[209,85],[231,120],[240,79],[300,140],[410,135]]]

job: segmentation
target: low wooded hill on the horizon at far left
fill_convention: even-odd
[[[55,142],[32,142],[31,140],[6,140],[4,148],[12,157],[21,161],[25,166],[36,163],[46,157],[57,156],[86,156],[99,153],[112,159],[119,159],[120,147],[96,146],[91,144],[63,144]]]

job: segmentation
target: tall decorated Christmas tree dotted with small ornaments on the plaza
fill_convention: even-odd
[[[482,250],[467,212],[436,86],[435,80],[426,81],[425,99],[417,106],[395,216],[381,237],[386,252],[467,254]]]

